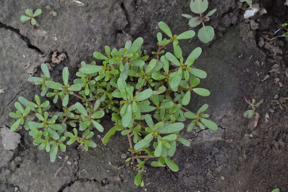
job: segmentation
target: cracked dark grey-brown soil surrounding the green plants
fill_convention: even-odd
[[[40,88],[27,78],[40,75],[41,63],[51,63],[52,77],[59,76],[62,68],[68,66],[72,81],[80,62],[92,61],[93,52],[103,52],[105,45],[120,48],[127,40],[143,37],[143,48],[149,53],[155,51],[159,21],[166,22],[174,34],[190,29],[188,20],[181,16],[191,14],[188,0],[81,2],[83,6],[64,0],[1,1],[1,132],[12,124],[8,113],[14,110],[17,98],[32,100],[34,94],[40,93]],[[5,135],[0,136],[0,191],[271,192],[276,187],[288,191],[288,44],[287,38],[269,41],[274,36],[267,34],[288,21],[284,2],[255,0],[261,12],[266,9],[267,14],[257,13],[245,20],[245,3],[210,0],[209,10],[217,8],[208,22],[215,28],[215,39],[209,44],[196,37],[191,42],[180,42],[184,56],[195,47],[202,47],[203,54],[195,65],[208,73],[201,85],[211,91],[207,98],[193,96],[188,109],[196,111],[202,104],[209,104],[209,113],[219,129],[181,133],[192,139],[192,145],[178,145],[174,160],[179,172],[148,165],[143,174],[145,187],[140,188],[133,183],[135,172],[131,167],[121,171],[115,168],[124,164],[122,157],[128,148],[128,141],[120,134],[106,146],[100,139],[105,133],[99,134],[100,138],[94,138],[98,145],[95,150],[84,153],[74,146],[66,153],[58,153],[59,158],[52,164],[49,154],[39,151],[28,132],[20,130],[21,142],[14,150],[5,150]],[[46,5],[57,12],[57,17],[45,10]],[[35,30],[19,20],[26,8],[42,9]],[[67,58],[53,64],[54,51],[67,54]],[[264,100],[257,108],[256,127],[255,119],[243,117],[249,109],[244,95],[250,100]],[[102,120],[106,131],[112,126],[109,119],[107,115]],[[66,154],[69,159],[65,162]]]

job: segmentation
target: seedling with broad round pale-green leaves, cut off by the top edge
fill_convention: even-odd
[[[197,17],[193,17],[189,14],[182,14],[183,17],[190,19],[188,22],[190,27],[196,27],[202,23],[203,27],[198,31],[198,39],[203,43],[208,43],[214,39],[215,33],[212,26],[205,26],[204,21],[209,21],[210,16],[213,15],[217,9],[209,11],[206,16],[202,15],[208,8],[208,0],[191,0],[190,9],[193,13],[199,14]]]

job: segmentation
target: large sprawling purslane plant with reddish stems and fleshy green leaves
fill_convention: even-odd
[[[179,46],[179,40],[191,39],[194,31],[173,35],[164,22],[159,22],[158,26],[168,38],[163,39],[160,32],[157,34],[159,47],[154,56],[142,52],[141,37],[133,43],[127,41],[119,50],[105,46],[105,55],[100,52],[93,54],[102,61],[102,65],[96,65],[95,61],[90,64],[81,62],[76,73],[78,78],[73,80],[73,84],[69,84],[67,67],[62,71],[63,83],[58,83],[50,77],[46,64],[42,64],[44,75],[41,78],[29,77],[28,81],[41,85],[41,96],[53,97],[55,104],[60,98],[63,111],[48,113],[50,102],[41,102],[38,95],[35,102],[19,97],[21,104],[15,103],[16,113],[9,114],[17,119],[11,130],[15,131],[24,124],[34,138],[33,144],[50,152],[50,160],[54,162],[58,148],[65,151],[75,142],[85,151],[96,147],[91,140],[94,131],[104,132],[99,120],[105,113],[111,113],[114,126],[107,131],[102,142],[108,143],[116,131],[127,136],[131,157],[126,162],[132,161],[137,171],[136,185],[144,186],[141,172],[149,159],[154,160],[151,166],[168,166],[172,171],[178,171],[177,164],[171,160],[177,142],[190,146],[188,140],[179,137],[184,128],[183,121],[190,121],[187,132],[191,132],[195,125],[212,130],[218,127],[206,119],[209,117],[204,113],[207,104],[197,113],[184,107],[190,103],[192,93],[210,95],[209,90],[198,88],[200,79],[206,78],[206,72],[193,65],[202,49],[195,48],[184,62]],[[170,43],[173,43],[174,54],[164,54],[164,48]],[[79,102],[71,104],[70,96],[79,98]],[[22,105],[26,108],[23,109]],[[33,113],[29,115],[30,112]]]

